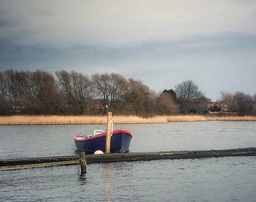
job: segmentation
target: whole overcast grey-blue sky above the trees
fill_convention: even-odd
[[[256,1],[0,0],[0,71],[117,73],[256,93]]]

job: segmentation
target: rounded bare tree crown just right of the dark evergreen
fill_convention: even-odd
[[[175,85],[175,93],[178,98],[201,98],[204,96],[198,85],[192,80],[185,80]]]

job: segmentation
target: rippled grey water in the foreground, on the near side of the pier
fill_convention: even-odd
[[[1,201],[255,201],[255,156],[0,171]]]

